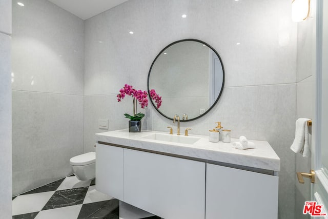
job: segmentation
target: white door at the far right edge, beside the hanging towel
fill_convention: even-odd
[[[328,138],[326,138],[328,136],[328,1],[326,0],[317,1],[316,66],[316,117],[312,126],[315,128],[315,148],[312,151],[315,183],[312,186],[312,200],[316,201],[317,205],[323,205],[321,213],[328,214]],[[310,211],[309,209],[310,207],[306,211]],[[319,211],[314,214],[316,213],[318,214]],[[319,218],[328,218],[328,215]]]

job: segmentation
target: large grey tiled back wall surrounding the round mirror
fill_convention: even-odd
[[[107,113],[110,121],[121,121],[121,114],[132,107],[128,104],[112,114],[111,106],[106,111],[93,103],[110,95],[114,99],[125,83],[146,90],[158,52],[178,39],[198,38],[220,54],[226,88],[210,113],[181,123],[181,128],[207,134],[214,122],[221,121],[235,137],[269,141],[281,158],[279,218],[294,218],[295,154],[289,147],[296,119],[297,25],[291,21],[290,2],[130,0],[88,19],[85,34],[85,94],[90,95],[85,97],[87,151],[93,150],[93,134],[99,131],[97,118]],[[148,129],[167,131],[168,125],[173,126],[152,106],[145,112],[143,124]],[[122,121],[114,122],[113,129],[127,127]]]

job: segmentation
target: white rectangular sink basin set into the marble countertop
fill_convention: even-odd
[[[199,137],[179,136],[179,135],[159,134],[159,133],[154,133],[154,134],[147,135],[147,136],[141,137],[141,138],[162,141],[162,142],[174,142],[174,143],[189,144],[189,145],[192,145],[195,142],[197,142],[198,140],[200,140]]]

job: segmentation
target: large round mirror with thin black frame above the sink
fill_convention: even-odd
[[[155,109],[173,120],[192,121],[208,113],[223,90],[224,68],[219,54],[198,39],[182,39],[165,47],[154,59],[148,74],[148,93],[161,96]]]

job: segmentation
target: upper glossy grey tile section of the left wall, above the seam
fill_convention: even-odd
[[[45,0],[15,2],[12,88],[83,95],[83,20]]]

